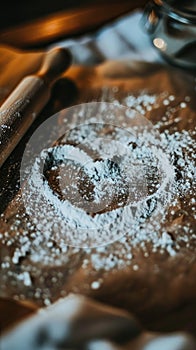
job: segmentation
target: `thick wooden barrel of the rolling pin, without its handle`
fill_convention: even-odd
[[[36,76],[24,78],[0,109],[0,167],[46,105],[50,91]]]

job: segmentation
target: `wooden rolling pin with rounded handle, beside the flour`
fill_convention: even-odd
[[[0,108],[0,167],[50,98],[51,87],[70,66],[68,50],[48,51],[40,70],[25,77]]]

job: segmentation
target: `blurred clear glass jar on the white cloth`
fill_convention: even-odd
[[[164,58],[196,69],[196,0],[150,1],[143,24]]]

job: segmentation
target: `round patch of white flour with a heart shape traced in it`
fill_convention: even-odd
[[[76,247],[101,246],[154,211],[172,176],[165,173],[170,164],[146,120],[143,128],[138,120],[130,124],[122,128],[93,117],[35,158],[23,199],[47,237]]]

